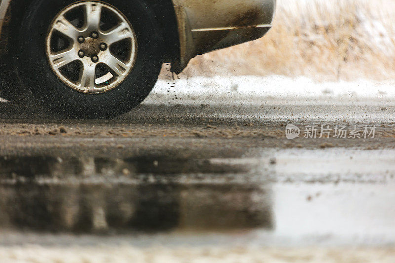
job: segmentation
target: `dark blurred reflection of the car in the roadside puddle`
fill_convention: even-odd
[[[106,232],[273,225],[270,189],[237,179],[246,174],[242,165],[162,157],[80,161],[38,156],[2,158],[0,168],[2,226]]]

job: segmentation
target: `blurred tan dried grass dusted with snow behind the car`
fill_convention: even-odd
[[[394,78],[394,7],[393,0],[279,0],[264,38],[198,56],[181,76]]]

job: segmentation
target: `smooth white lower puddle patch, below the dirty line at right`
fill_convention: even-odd
[[[394,244],[394,189],[394,183],[274,184],[274,234],[295,244]]]

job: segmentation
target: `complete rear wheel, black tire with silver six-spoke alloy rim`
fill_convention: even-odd
[[[20,28],[17,66],[50,110],[115,116],[140,104],[153,88],[161,39],[142,0],[35,0]]]

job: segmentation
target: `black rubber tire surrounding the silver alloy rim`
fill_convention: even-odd
[[[32,2],[19,31],[20,52],[16,59],[19,75],[49,111],[73,118],[114,117],[126,113],[148,96],[161,69],[162,35],[153,11],[143,0],[86,1],[86,4],[106,4],[118,10],[130,22],[137,41],[134,66],[123,81],[111,90],[92,94],[73,89],[62,81],[51,67],[46,49],[48,30],[56,14],[80,2],[76,0]],[[90,37],[85,39],[88,38],[91,39]],[[108,49],[110,52],[110,46]]]

